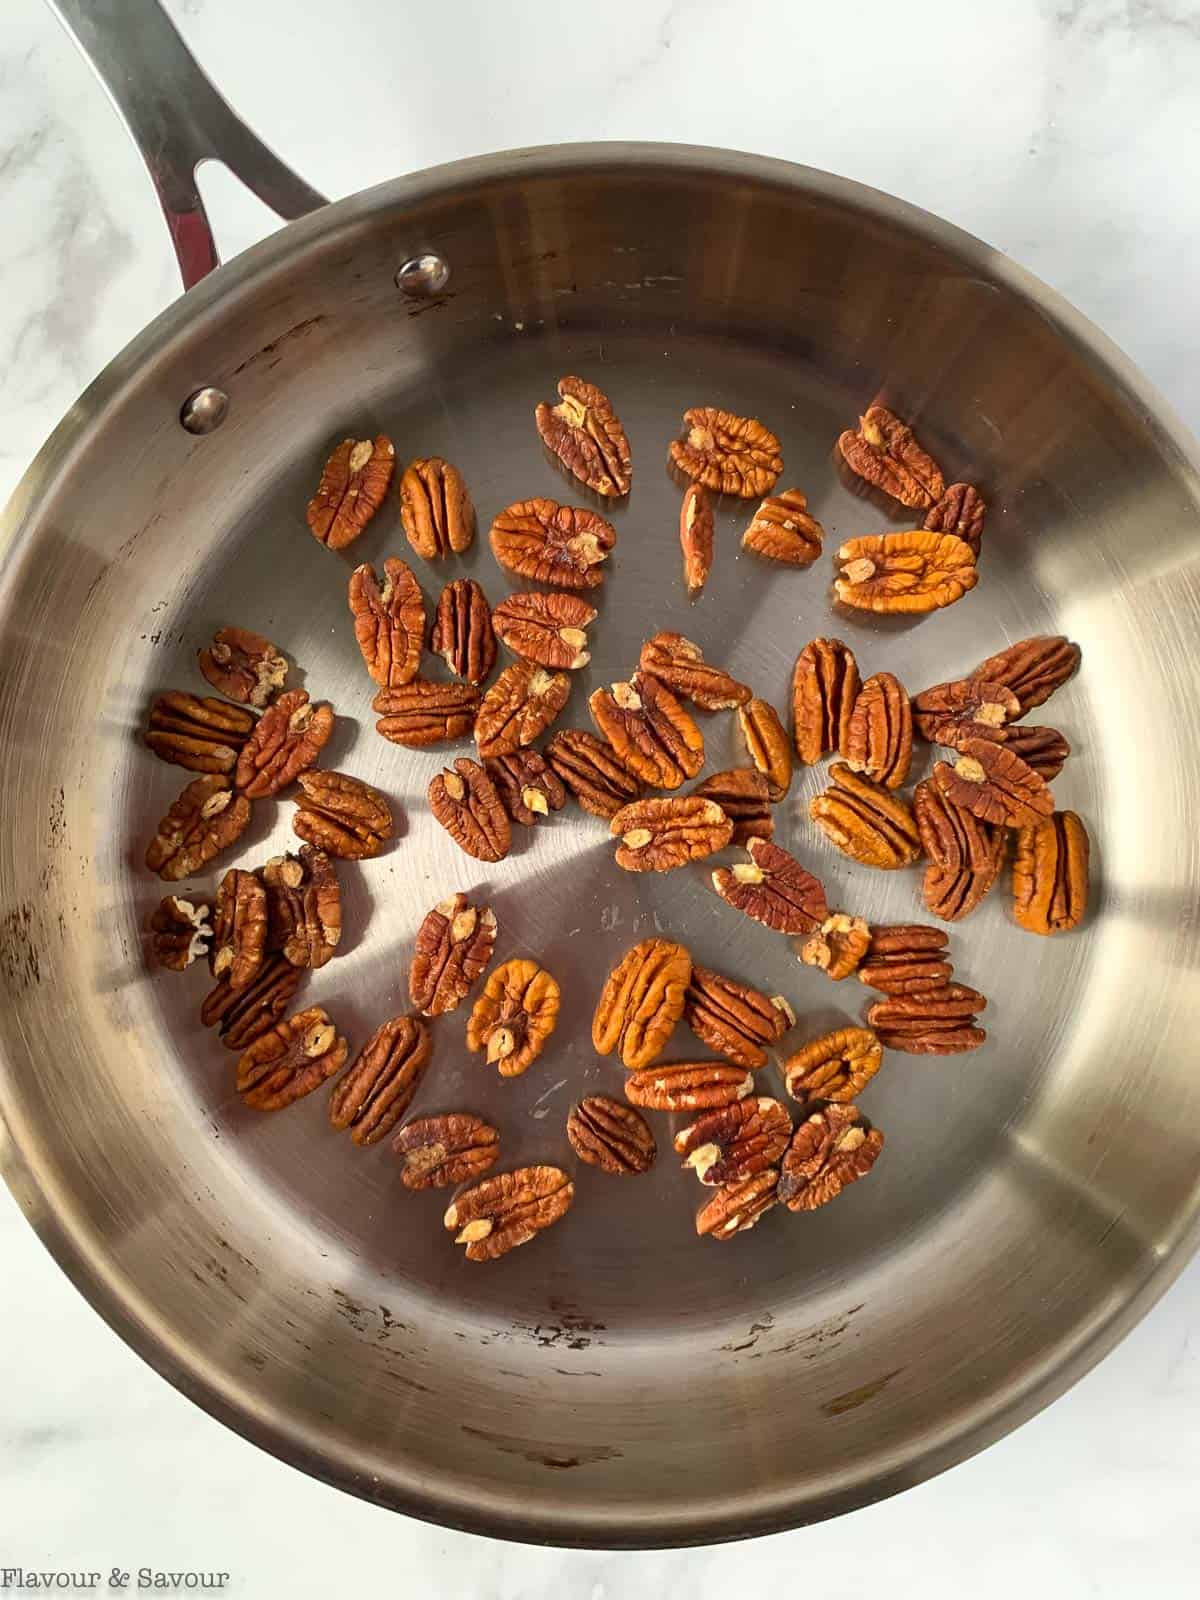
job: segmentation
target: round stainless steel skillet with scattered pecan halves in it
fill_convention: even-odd
[[[99,45],[115,8],[86,11]],[[144,14],[142,58],[160,26]],[[190,173],[211,149],[195,141],[234,123],[160,82],[194,107],[182,142],[158,142],[168,186],[178,155]],[[168,192],[190,218],[176,238],[203,245],[189,203],[186,186]],[[405,293],[397,270],[414,261]],[[830,536],[874,531],[830,443],[882,395],[987,488],[984,576],[920,626],[838,627],[912,688],[1022,634],[1080,640],[1085,669],[1053,706],[1077,747],[1056,792],[1091,826],[1098,894],[1086,928],[1046,946],[1002,896],[955,934],[960,971],[992,1000],[990,1042],[888,1061],[864,1096],[885,1155],[827,1213],[714,1245],[693,1237],[694,1186],[667,1158],[627,1184],[584,1170],[560,1227],[475,1269],[438,1198],[406,1195],[386,1150],[334,1136],[322,1096],[245,1112],[197,1022],[203,978],[146,974],[139,928],[160,886],[139,858],[181,774],[136,731],[155,690],[198,688],[194,651],[224,621],[269,632],[334,702],[330,763],[390,792],[406,830],[347,872],[349,949],[310,992],[362,1040],[403,1003],[424,909],[486,883],[502,950],[560,978],[563,1024],[534,1072],[499,1083],[448,1022],[419,1106],[493,1115],[514,1163],[566,1158],[571,1101],[619,1093],[586,1022],[635,936],[678,933],[787,994],[811,1030],[856,1005],[738,925],[702,872],[621,878],[581,816],[475,870],[424,810],[440,754],[373,733],[344,584],[352,562],[400,552],[400,530],[390,506],[349,562],[315,546],[302,506],[328,445],[386,429],[402,456],[448,456],[486,525],[515,498],[568,498],[531,426],[565,371],[613,395],[635,454],[565,720],[586,722],[586,693],[651,627],[682,627],[782,706],[797,648],[832,624],[827,574],[738,558],[728,507],[714,581],[688,606],[666,443],[691,403],[762,416]],[[205,387],[227,414],[195,435],[181,410]],[[6,1176],[50,1248],[147,1360],[250,1438],[365,1498],[514,1538],[762,1533],[893,1493],[1013,1427],[1195,1243],[1195,462],[1123,357],[1011,262],[894,200],[744,155],[597,146],[458,163],[315,211],[206,277],[80,400],[5,520],[0,1112]],[[456,570],[493,598],[507,589],[485,542]],[[445,574],[419,576],[432,597]],[[728,730],[707,731],[723,765]],[[912,915],[914,875],[854,870],[814,837],[818,781],[794,786],[782,840],[838,902]],[[237,859],[278,848],[288,811],[262,808]]]

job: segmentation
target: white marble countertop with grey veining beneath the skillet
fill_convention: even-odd
[[[726,144],[939,211],[1091,315],[1200,427],[1195,0],[171,0],[226,96],[336,197],[557,139]],[[150,187],[40,0],[0,8],[0,493],[178,293]],[[352,80],[354,123],[328,117]],[[205,181],[226,254],[272,221]],[[1200,1264],[1096,1371],[986,1454],[835,1523],[651,1555],[502,1546],[254,1451],[131,1355],[0,1197],[0,1570],[227,1571],[227,1594],[549,1597],[886,1586],[976,1600],[1195,1594]],[[0,1571],[0,1587],[3,1587]]]

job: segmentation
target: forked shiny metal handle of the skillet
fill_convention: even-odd
[[[323,206],[218,94],[158,0],[50,0],[138,146],[184,288],[221,264],[197,168],[219,160],[285,221]]]

